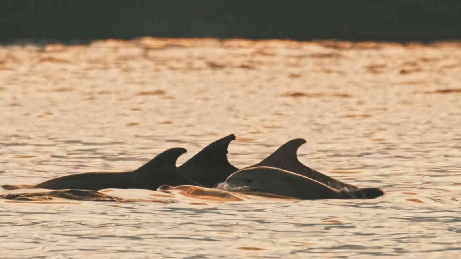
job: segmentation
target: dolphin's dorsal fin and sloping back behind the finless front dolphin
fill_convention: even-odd
[[[279,147],[274,153],[262,160],[256,165],[249,166],[270,166],[280,168],[286,171],[291,171],[309,178],[312,178],[318,182],[330,186],[331,188],[342,190],[347,188],[349,190],[356,190],[357,187],[338,181],[329,176],[326,176],[318,171],[315,171],[306,165],[303,165],[296,155],[298,148],[301,147],[306,140],[304,139],[293,139],[286,142],[282,147]]]

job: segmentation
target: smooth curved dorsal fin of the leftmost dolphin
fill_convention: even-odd
[[[154,159],[147,162],[145,165],[136,169],[137,172],[150,173],[158,170],[159,168],[172,168],[176,169],[176,160],[177,158],[186,153],[187,150],[182,147],[175,147],[165,150],[164,152],[158,154]]]

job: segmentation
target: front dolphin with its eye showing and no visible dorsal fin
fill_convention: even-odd
[[[269,166],[256,166],[236,171],[226,179],[226,183],[301,200],[374,199],[384,195],[384,192],[378,188],[337,190],[316,179]]]

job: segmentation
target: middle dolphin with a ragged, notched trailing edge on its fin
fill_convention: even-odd
[[[227,147],[233,140],[235,135],[231,134],[209,144],[179,166],[179,174],[208,188],[218,182],[224,182],[231,173],[238,171],[238,168],[227,160]]]

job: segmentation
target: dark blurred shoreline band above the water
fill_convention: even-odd
[[[461,2],[5,0],[0,26],[3,44],[142,36],[430,42],[461,39]]]

